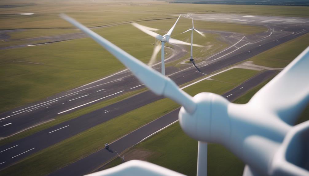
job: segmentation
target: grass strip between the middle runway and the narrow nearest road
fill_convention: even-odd
[[[233,87],[235,85],[231,83],[204,80],[184,90],[191,95],[203,91],[222,94]],[[2,173],[6,175],[22,173],[29,173],[31,175],[48,174],[100,150],[104,143],[111,142],[178,107],[177,103],[167,98],[150,103],[41,150],[23,159],[21,162],[2,170]],[[61,160],[59,160],[59,154],[61,154]],[[46,160],[45,158],[49,159]],[[35,168],[29,167],[31,163],[37,163]]]

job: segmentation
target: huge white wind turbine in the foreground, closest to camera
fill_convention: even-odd
[[[309,175],[309,121],[293,126],[309,102],[309,82],[306,81],[309,75],[309,47],[247,104],[235,104],[208,92],[191,97],[170,78],[159,74],[74,19],[66,15],[61,17],[113,54],[155,94],[182,105],[180,126],[186,134],[199,141],[197,175],[207,174],[206,142],[220,143],[243,160],[246,163],[244,176]],[[146,165],[135,164],[126,168],[127,164],[92,175],[113,175],[122,171],[132,175],[137,170],[144,173],[148,170],[149,175],[164,175],[162,169],[151,170],[150,165]]]

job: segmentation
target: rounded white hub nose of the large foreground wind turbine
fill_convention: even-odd
[[[203,142],[223,144],[229,139],[230,123],[227,106],[230,103],[220,95],[202,92],[193,97],[197,108],[190,114],[181,107],[179,123],[190,137]]]

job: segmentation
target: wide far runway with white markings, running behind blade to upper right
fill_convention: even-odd
[[[197,19],[197,17],[194,18]],[[270,27],[267,32],[249,36],[222,31],[204,31],[221,34],[226,41],[231,42],[231,46],[208,57],[205,61],[197,63],[197,67],[203,73],[210,74],[213,71],[244,61],[256,54],[309,32],[307,23],[300,26],[290,25],[288,28],[286,28],[286,23],[285,26],[272,25],[274,26]],[[266,26],[269,27],[269,24],[267,23]],[[186,54],[184,48],[174,46],[174,49],[175,55],[171,57],[171,61],[181,58]],[[159,65],[156,68],[160,70]],[[172,74],[169,77],[178,85],[204,76],[196,71],[191,66],[184,70],[179,70],[175,67],[166,68],[167,75]],[[185,76],[183,77],[183,75]],[[0,114],[0,137],[6,137],[36,124],[49,121],[59,115],[58,113],[63,112],[61,114],[65,114],[73,112],[74,110],[90,106],[93,103],[104,101],[107,98],[116,97],[142,87],[142,83],[128,70],[124,70],[121,73],[97,82],[49,97],[48,101],[35,102],[15,108],[14,110]]]

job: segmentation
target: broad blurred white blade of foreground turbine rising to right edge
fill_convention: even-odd
[[[293,124],[309,102],[309,47],[249,101]]]

